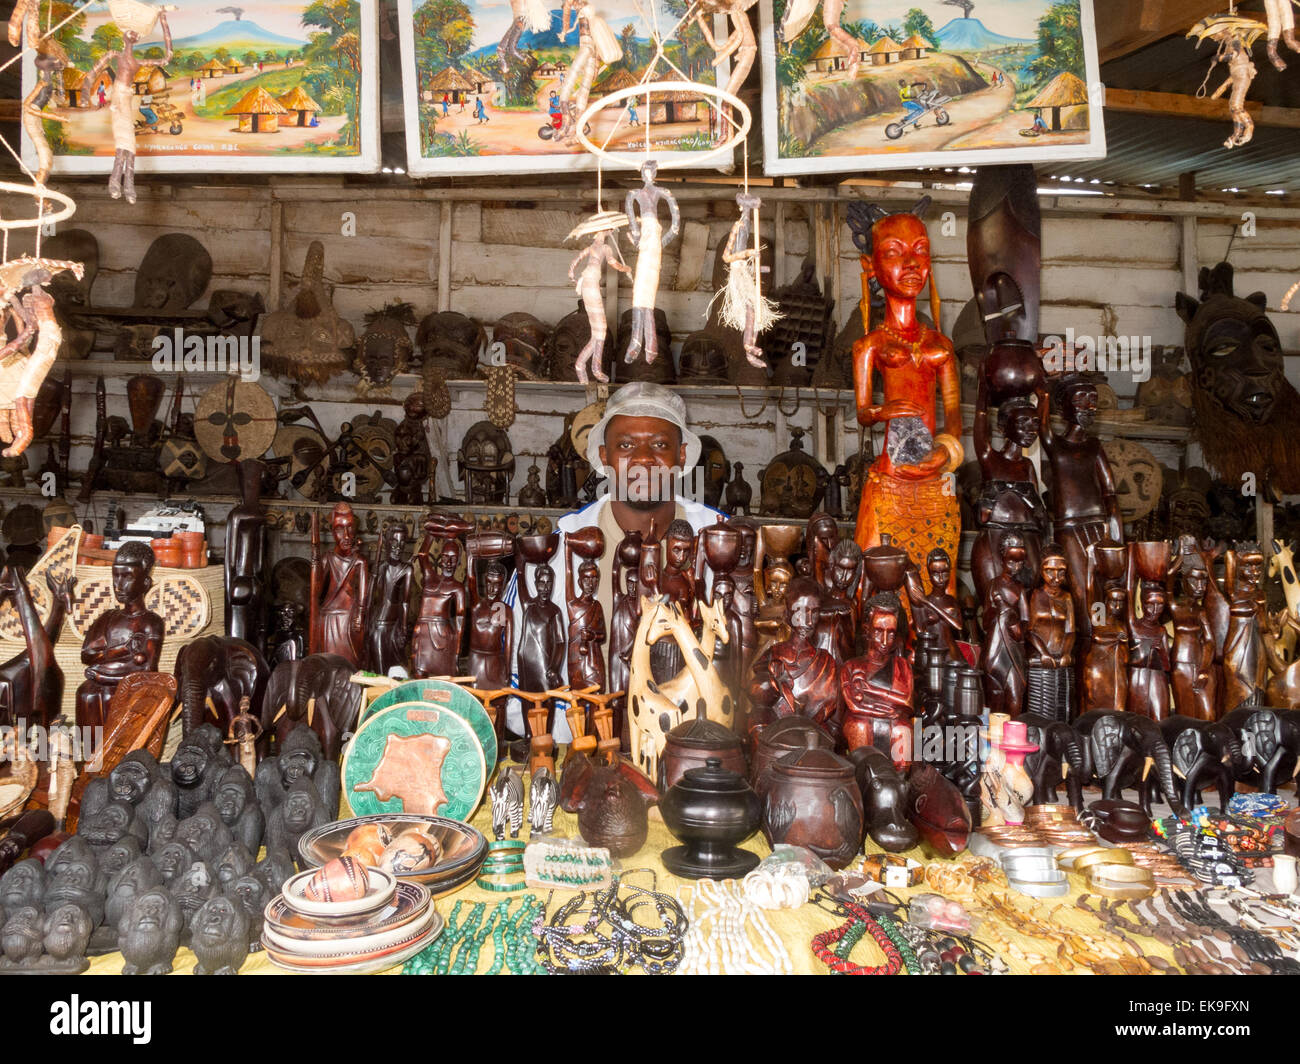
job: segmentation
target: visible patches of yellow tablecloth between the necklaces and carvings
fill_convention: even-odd
[[[491,838],[491,813],[486,801],[484,801],[478,812],[474,814],[472,823],[485,835],[488,835],[488,838]],[[526,838],[526,834],[528,829],[525,825],[524,831],[521,832],[521,838]],[[577,817],[556,810],[555,834],[577,838],[578,836]],[[668,829],[664,826],[663,821],[659,818],[658,810],[651,809],[650,835],[646,839],[646,844],[641,848],[640,853],[637,853],[633,857],[623,860],[620,862],[621,868],[624,870],[641,869],[641,868],[653,869],[658,878],[659,890],[676,892],[677,888],[682,886],[689,888],[690,881],[679,879],[677,877],[671,875],[664,869],[663,862],[659,858],[659,855],[664,849],[676,844],[677,844],[676,839],[673,839],[673,836],[668,832]],[[754,838],[745,844],[745,848],[751,849],[754,853],[758,853],[760,856],[766,856],[767,853],[771,852],[771,848],[767,845],[767,842],[763,839],[762,834],[754,835]],[[867,852],[879,852],[879,848],[870,839],[867,840]],[[922,861],[923,864],[930,860],[920,848],[909,851],[905,856],[914,857],[918,861]],[[963,855],[963,857],[956,860],[971,860],[971,858],[968,857],[968,855]],[[646,878],[647,877],[644,875],[637,877],[636,882],[645,883]],[[1093,916],[1082,912],[1075,905],[1075,900],[1083,892],[1082,890],[1084,886],[1083,878],[1078,875],[1071,875],[1070,886],[1071,891],[1069,896],[1056,898],[1046,901],[1036,901],[1035,899],[1026,898],[1023,895],[1014,895],[1014,892],[1013,896],[1015,898],[1020,908],[1027,908],[1039,916],[1049,918],[1053,925],[1061,929],[1062,934],[1069,934],[1071,930],[1088,931],[1092,934],[1098,934],[1098,933],[1108,934],[1105,929],[1101,926],[1101,924]],[[896,891],[896,894],[898,894],[902,898],[909,898],[910,895],[923,894],[926,891],[927,887],[920,886],[910,890],[898,890]],[[515,894],[497,894],[480,890],[474,884],[471,884],[464,890],[458,891],[454,895],[439,899],[436,903],[436,905],[438,908],[438,912],[441,912],[443,917],[446,917],[447,914],[451,913],[451,909],[455,907],[458,900],[464,900],[467,903],[467,905],[462,907],[462,916],[464,916],[464,911],[468,908],[469,904],[473,904],[474,901],[485,901],[489,903],[489,907],[493,907],[502,899],[512,899],[514,900],[512,908],[514,908],[514,905],[517,904],[517,899],[523,898],[526,892],[528,891],[517,891]],[[567,894],[564,895],[556,894],[558,899],[568,896],[569,895]],[[814,935],[835,926],[840,921],[837,921],[831,913],[819,909],[812,904],[803,905],[800,909],[781,909],[776,912],[768,912],[767,916],[772,925],[772,929],[781,937],[783,942],[785,943],[785,948],[789,951],[790,960],[793,963],[796,973],[827,974],[826,966],[820,961],[818,961],[818,959],[812,955],[810,943]],[[1032,939],[1032,938],[1026,938],[1023,935],[1018,935],[1014,931],[1010,931],[1009,929],[1002,926],[1001,924],[998,924],[997,926],[998,926],[998,933],[1002,937],[1010,939],[1011,942],[1018,943],[1027,952],[1037,952],[1037,953],[1054,952],[1054,947],[1046,946],[1041,939]],[[979,938],[979,934],[976,934],[976,938]],[[1140,939],[1140,944],[1143,950],[1145,950],[1150,955],[1158,955],[1170,961],[1173,960],[1173,951],[1169,947],[1157,943],[1154,939]],[[879,964],[881,961],[881,955],[872,943],[864,940],[855,948],[852,959],[858,964]],[[1013,973],[1018,974],[1028,973],[1027,965],[1017,963],[1010,957],[1008,957],[1006,960]],[[486,972],[488,968],[491,966],[491,963],[493,963],[493,950],[491,950],[491,943],[489,942],[485,943],[482,953],[478,957],[478,970]],[[181,950],[177,952],[176,961],[173,965],[174,972],[177,974],[181,973],[190,974],[194,969],[194,965],[195,965],[194,953],[191,953],[188,950]],[[121,972],[121,969],[122,969],[121,955],[109,953],[101,957],[95,957],[91,961],[91,968],[87,974],[116,974]],[[395,974],[400,970],[402,970],[400,965],[395,966],[390,969],[390,974]],[[1083,973],[1082,969],[1080,973]],[[272,964],[263,952],[259,951],[248,956],[243,966],[239,969],[239,974],[266,976],[266,974],[289,974],[289,973],[282,972],[280,968]]]

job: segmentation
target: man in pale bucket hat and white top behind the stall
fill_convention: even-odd
[[[699,437],[686,428],[686,403],[662,384],[633,381],[615,392],[604,416],[592,427],[586,440],[586,460],[604,477],[595,502],[566,514],[556,523],[560,545],[551,559],[555,574],[555,604],[563,610],[564,539],[592,525],[604,533],[604,554],[599,559],[601,583],[597,601],[604,610],[606,624],[614,615],[614,552],[628,532],[642,540],[662,540],[675,520],[686,522],[692,531],[714,524],[725,514],[677,494],[679,481],[689,477],[699,459]],[[580,559],[575,559],[577,562]],[[575,572],[575,583],[577,574]],[[506,601],[515,610],[515,630],[523,623],[523,605],[514,580]],[[523,731],[516,704],[510,709],[510,725]],[[555,738],[568,740],[563,715],[556,715]]]

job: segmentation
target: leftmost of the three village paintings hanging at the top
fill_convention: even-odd
[[[161,25],[134,48],[138,170],[377,168],[374,0],[170,3],[170,59]],[[52,22],[74,10],[65,0],[46,0],[43,20],[46,7]],[[46,108],[55,169],[108,170],[109,96],[122,34],[108,10],[91,4],[57,36],[72,65]]]

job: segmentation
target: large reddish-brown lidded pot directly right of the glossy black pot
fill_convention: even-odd
[[[792,751],[764,770],[763,835],[770,845],[811,849],[833,869],[862,849],[864,816],[853,765],[816,747]]]

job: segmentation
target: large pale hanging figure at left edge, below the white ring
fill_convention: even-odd
[[[46,291],[46,285],[65,269],[78,281],[83,276],[81,263],[61,259],[25,255],[0,265],[0,299],[18,330],[0,347],[0,442],[8,445],[5,458],[22,454],[31,444],[36,393],[55,364],[64,338],[55,316],[55,299]],[[22,355],[32,336],[31,351]]]

